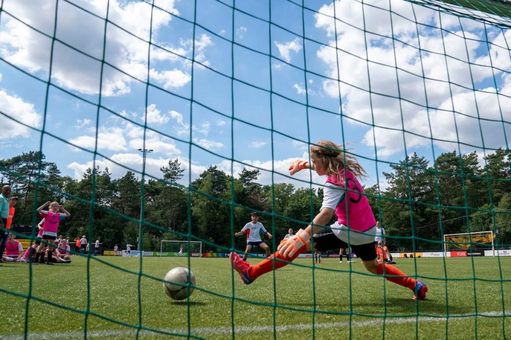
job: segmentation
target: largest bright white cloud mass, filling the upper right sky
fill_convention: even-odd
[[[477,117],[479,114],[481,118],[501,119],[496,94],[470,90],[473,87],[472,79],[476,84],[484,80],[492,81],[493,84],[492,69],[475,66],[469,68],[467,60],[469,58],[472,63],[490,66],[491,56],[492,62],[498,64],[501,69],[511,68],[508,53],[496,46],[497,44],[506,46],[505,41],[509,41],[511,33],[506,32],[505,37],[501,33],[493,35],[491,42],[495,44],[490,45],[489,56],[483,53],[484,49],[480,48],[481,45],[486,46],[481,42],[484,36],[481,36],[480,24],[469,24],[467,27],[464,25],[464,31],[458,31],[459,23],[455,22],[458,20],[457,17],[443,13],[443,27],[451,28],[452,33],[442,36],[439,30],[431,28],[421,30],[420,42],[423,50],[420,54],[413,21],[397,19],[391,25],[388,18],[381,17],[381,10],[377,11],[370,6],[364,6],[365,12],[362,13],[360,3],[336,1],[337,17],[347,23],[356,24],[356,22],[362,22],[363,14],[367,31],[392,37],[391,28],[393,28],[393,36],[405,41],[407,45],[394,40],[394,46],[391,39],[370,34],[364,36],[359,29],[349,24],[339,24],[339,21],[337,37],[335,37],[334,19],[321,15],[333,16],[333,6],[334,4],[324,5],[319,10],[320,14],[315,15],[316,27],[326,31],[327,36],[332,38],[329,46],[321,46],[316,55],[328,67],[327,75],[334,79],[340,76],[341,83],[326,80],[323,81],[322,88],[331,98],[342,97],[342,109],[346,116],[367,124],[363,141],[366,145],[373,146],[376,139],[379,157],[388,158],[392,154],[404,151],[403,132],[399,130],[402,124],[407,132],[419,135],[405,134],[408,152],[413,152],[415,147],[431,146],[430,123],[433,138],[446,139],[454,144],[459,141],[476,146],[482,146],[482,139],[484,139],[486,147],[505,146],[502,124],[499,128],[498,124],[492,122],[456,114],[458,128],[458,134],[456,134],[452,111],[472,117]],[[392,0],[391,6],[396,13],[413,18],[412,5],[409,3]],[[417,21],[433,26],[437,24],[437,12],[422,7],[414,7],[414,9]],[[455,20],[449,21],[453,18]],[[358,27],[357,24],[356,26]],[[474,31],[471,31],[472,29]],[[336,46],[346,52],[339,51],[336,54]],[[425,50],[435,51],[437,54],[428,53]],[[447,64],[444,53],[449,56]],[[478,57],[478,54],[483,56]],[[366,56],[369,63],[366,61]],[[417,76],[402,70],[396,71],[396,66]],[[422,76],[423,69],[424,76],[429,79],[425,80]],[[499,92],[508,93],[509,91],[511,94],[511,79],[503,76],[502,72],[495,68],[493,71],[497,78],[503,80]],[[373,92],[370,97],[371,102],[369,101],[369,80],[370,91]],[[469,90],[459,86],[450,88],[449,81],[467,87]],[[294,88],[299,94],[305,94],[303,85],[295,84]],[[484,90],[496,92],[494,88]],[[477,105],[474,97],[477,99]],[[499,96],[499,101],[500,108],[507,108],[511,104],[503,96]],[[426,105],[430,107],[429,111],[424,109]],[[502,115],[504,120],[511,119],[509,110],[502,110]],[[371,127],[373,119],[375,124],[382,128]],[[350,120],[347,121],[350,122]],[[361,123],[352,122],[352,124],[364,126]],[[482,137],[479,133],[479,124],[483,129]],[[389,128],[398,128],[398,130]],[[434,143],[448,149],[452,149],[453,145],[453,143],[442,141],[434,141]],[[463,149],[468,150],[470,147],[462,146]]]

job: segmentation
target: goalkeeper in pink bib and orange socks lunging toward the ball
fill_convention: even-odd
[[[242,281],[250,284],[259,276],[271,272],[273,263],[275,269],[286,266],[299,254],[310,251],[314,242],[314,248],[319,251],[351,246],[368,272],[385,274],[387,280],[414,292],[413,299],[425,299],[428,287],[424,282],[408,277],[398,268],[378,263],[376,260],[376,220],[357,180],[357,177],[366,175],[357,159],[345,153],[342,145],[330,141],[319,141],[317,145],[311,145],[310,159],[312,164],[295,161],[289,170],[291,175],[303,169],[312,169],[320,176],[328,176],[319,214],[305,230],[300,229],[293,237],[282,240],[277,251],[257,265],[250,266],[236,252],[231,252],[230,261]],[[334,213],[337,221],[330,227],[324,227],[332,220]],[[311,235],[314,237],[311,238]]]

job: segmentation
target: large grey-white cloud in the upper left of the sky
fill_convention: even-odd
[[[109,3],[109,20],[123,29],[149,40],[150,24],[152,39],[158,44],[158,33],[168,25],[172,16],[155,9],[151,19],[151,6],[145,2]],[[179,12],[174,2],[161,3],[171,13]],[[102,17],[106,15],[103,1],[81,2],[80,6]],[[4,4],[4,8],[38,30],[53,34],[55,3],[43,2],[37,6],[31,1],[15,1]],[[64,15],[65,13],[65,15]],[[103,54],[104,21],[70,4],[59,4],[57,37],[65,43],[101,59]],[[51,39],[47,38],[16,19],[6,16],[0,32],[0,55],[16,66],[29,72],[49,71]],[[202,35],[198,40],[201,50],[211,45],[211,39]],[[164,45],[178,55],[190,55],[191,49]],[[110,25],[107,30],[105,60],[128,74],[146,81],[148,44],[119,28]],[[177,60],[178,57],[158,48],[153,48],[155,60]],[[85,94],[99,93],[101,63],[77,53],[57,42],[53,54],[52,78],[59,85]],[[181,87],[190,82],[190,75],[180,69],[151,69],[151,79],[166,89]],[[103,69],[102,94],[118,96],[129,93],[134,80],[111,67]]]

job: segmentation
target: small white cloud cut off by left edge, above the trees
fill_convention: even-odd
[[[42,117],[35,110],[34,104],[26,102],[15,95],[9,95],[2,89],[0,89],[0,111],[3,113],[0,114],[0,126],[2,126],[5,132],[0,134],[0,139],[30,137],[31,129],[29,127],[7,117],[15,118],[28,126],[41,128]]]

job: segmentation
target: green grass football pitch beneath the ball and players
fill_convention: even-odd
[[[168,298],[159,281],[168,270],[187,267],[187,258],[143,258],[144,274],[154,278],[130,272],[138,272],[140,258],[99,259],[90,259],[88,271],[87,259],[79,256],[69,265],[33,268],[30,339],[83,338],[85,325],[87,337],[135,338],[139,320],[143,327],[172,333],[141,331],[141,339],[179,338],[189,327],[193,337],[233,338],[233,324],[239,339],[470,339],[476,332],[479,338],[511,337],[511,257],[500,258],[500,269],[492,257],[447,258],[446,267],[442,258],[417,259],[417,273],[429,286],[427,300],[418,304],[411,291],[367,276],[360,261],[350,274],[345,261],[327,258],[313,271],[311,259],[299,259],[301,266],[287,266],[248,286],[234,275],[233,287],[228,259],[192,258],[198,289],[188,304]],[[413,275],[413,259],[397,261]],[[27,299],[20,295],[29,293],[29,268],[0,268],[1,339],[24,338]],[[476,312],[480,316],[474,317]]]

